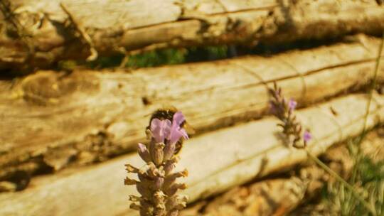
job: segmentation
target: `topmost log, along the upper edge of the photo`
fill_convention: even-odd
[[[384,8],[375,0],[8,1],[0,5],[7,18],[0,20],[6,26],[0,31],[0,69],[43,68],[96,53],[275,44],[384,30]]]

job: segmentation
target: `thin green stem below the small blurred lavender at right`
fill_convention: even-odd
[[[366,202],[366,200],[363,199],[363,196],[358,194],[355,190],[355,188],[352,187],[352,185],[350,185],[349,183],[346,182],[346,180],[344,180],[343,178],[340,177],[340,175],[338,175],[337,173],[335,173],[335,171],[331,170],[331,168],[329,168],[328,166],[326,166],[325,163],[323,163],[322,161],[319,160],[319,158],[317,158],[316,156],[314,156],[311,152],[308,151],[308,149],[305,148],[305,151],[306,153],[308,154],[308,156],[314,160],[317,164],[319,164],[319,166],[321,166],[321,168],[323,168],[325,171],[327,171],[329,174],[333,175],[334,178],[336,178],[338,181],[340,181],[346,188],[348,188],[351,193],[356,197],[356,199],[358,199],[361,204],[364,205],[364,207],[366,207],[371,213],[372,215],[376,215],[376,211],[375,209],[373,209],[373,207],[371,207],[368,202]]]

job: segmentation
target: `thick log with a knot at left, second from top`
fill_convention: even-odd
[[[331,97],[371,78],[377,47],[364,38],[272,57],[0,80],[0,179],[130,151],[161,104],[181,109],[201,134],[261,117],[275,81],[300,106]]]

